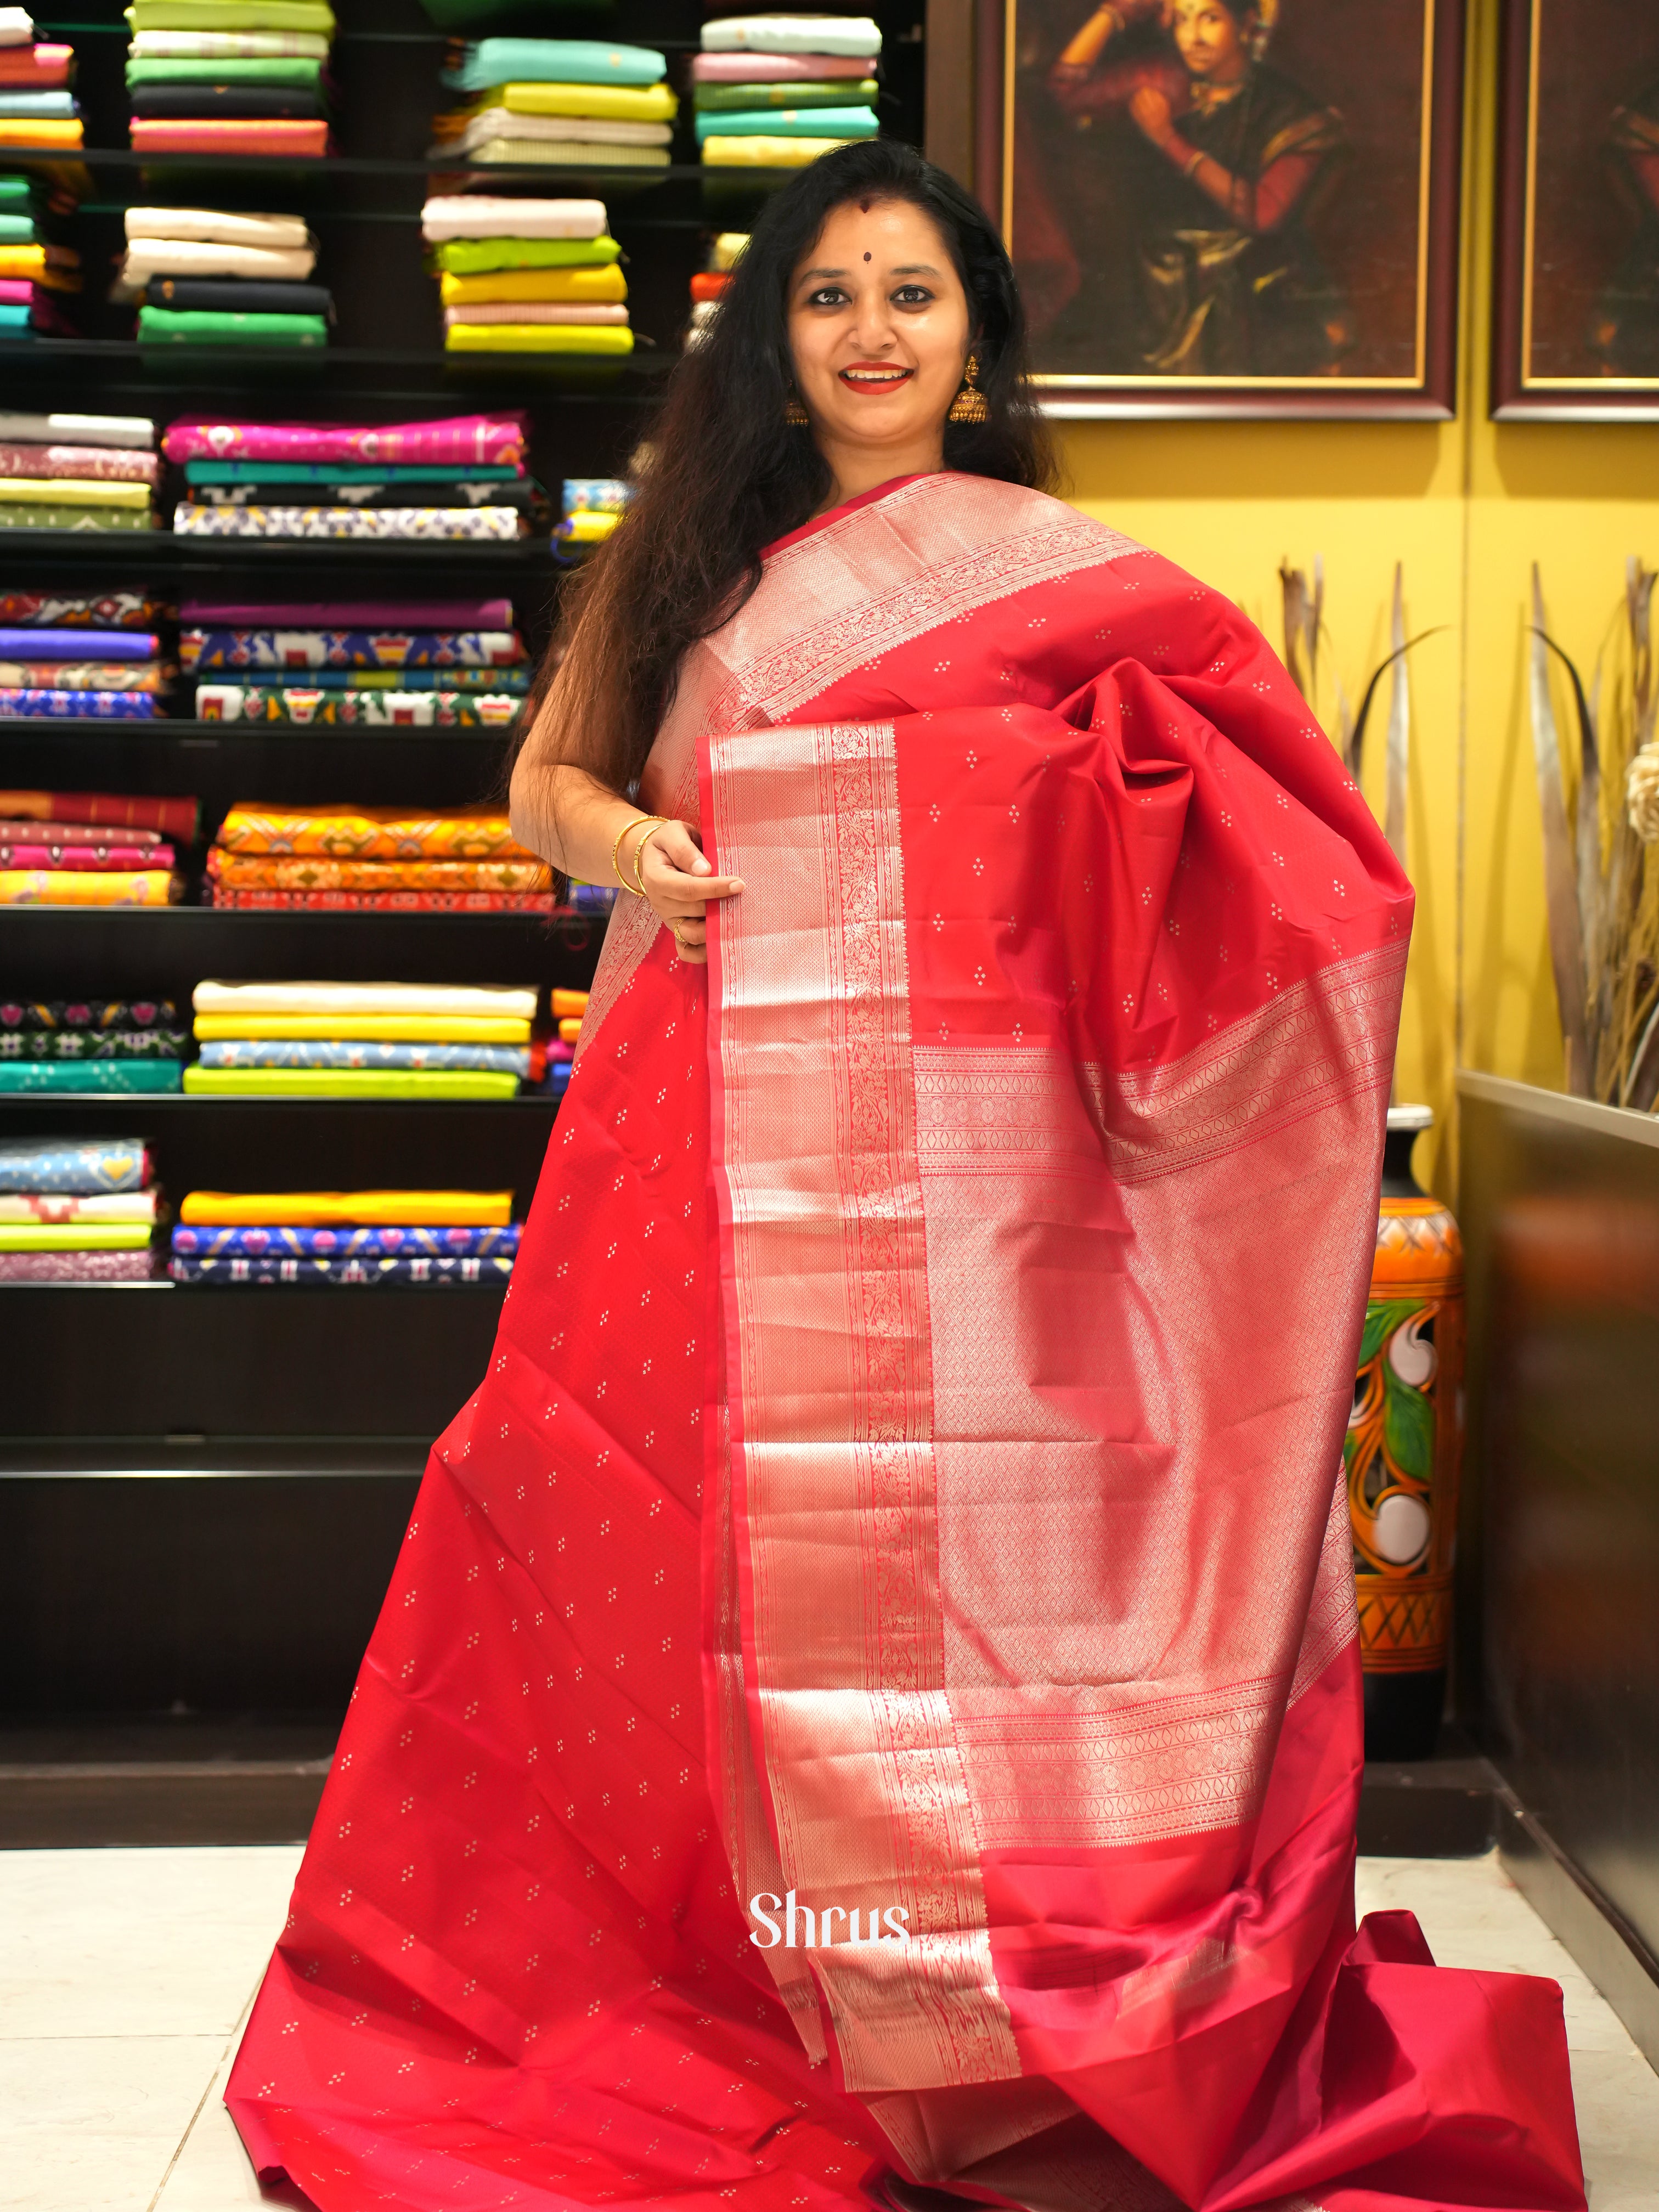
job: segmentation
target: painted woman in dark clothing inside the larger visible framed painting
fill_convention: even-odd
[[[1307,234],[1343,119],[1261,60],[1276,13],[1270,0],[1115,0],[1048,73],[1073,131],[1119,124],[1104,155],[1135,263],[1126,369],[1325,376],[1354,343]],[[1071,321],[1088,327],[1091,312],[1082,299]]]

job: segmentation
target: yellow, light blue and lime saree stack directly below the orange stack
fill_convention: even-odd
[[[199,982],[208,1097],[511,1099],[533,1073],[535,991],[422,982]],[[188,1219],[188,1214],[186,1214]]]

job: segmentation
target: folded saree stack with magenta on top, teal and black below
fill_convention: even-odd
[[[188,538],[416,538],[513,544],[542,518],[524,418],[175,422],[161,440]],[[518,659],[518,655],[513,655]]]

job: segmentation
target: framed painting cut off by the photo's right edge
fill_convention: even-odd
[[[1659,420],[1659,9],[1504,0],[1493,414]]]

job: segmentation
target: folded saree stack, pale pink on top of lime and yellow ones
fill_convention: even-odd
[[[420,210],[449,354],[633,352],[622,248],[597,199],[438,195]]]

